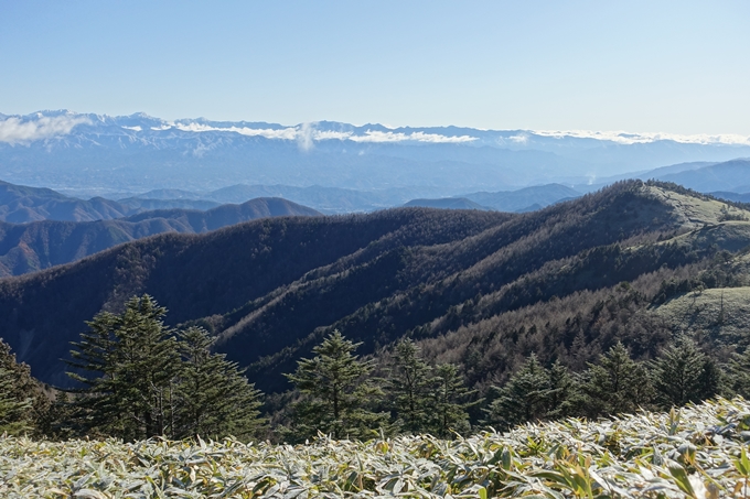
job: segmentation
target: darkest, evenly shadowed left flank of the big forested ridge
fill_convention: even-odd
[[[156,236],[75,264],[0,280],[0,330],[34,376],[65,384],[58,359],[66,357],[83,322],[101,308],[118,310],[132,294],[154,295],[169,307],[172,323],[221,317],[340,260],[463,239],[507,218],[485,211],[401,209],[266,218],[204,236]],[[363,283],[363,290],[368,288]],[[253,360],[250,352],[247,360]]]

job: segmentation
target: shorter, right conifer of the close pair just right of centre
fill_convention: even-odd
[[[457,366],[441,364],[435,369],[432,417],[430,429],[437,436],[448,437],[452,432],[462,434],[470,430],[467,409],[479,403],[469,402],[475,390],[469,390]]]

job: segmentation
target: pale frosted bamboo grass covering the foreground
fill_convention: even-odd
[[[0,440],[2,498],[750,497],[750,402],[469,438]]]

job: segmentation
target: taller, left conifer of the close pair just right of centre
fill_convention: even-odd
[[[427,429],[431,410],[431,371],[414,341],[404,339],[396,345],[386,391],[403,430],[419,433]]]

